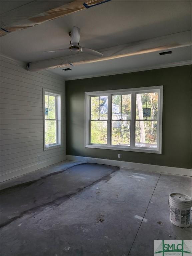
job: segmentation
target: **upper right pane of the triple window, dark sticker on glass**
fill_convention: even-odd
[[[137,93],[136,119],[157,119],[158,92]]]

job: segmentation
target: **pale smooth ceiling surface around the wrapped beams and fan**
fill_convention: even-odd
[[[3,11],[9,10],[0,1]],[[16,3],[14,8],[16,8]],[[43,51],[69,47],[68,33],[73,26],[81,29],[80,45],[101,49],[136,42],[163,35],[191,30],[191,1],[110,1],[89,9],[20,30],[0,38],[2,54],[14,59],[34,62],[68,55],[68,51]],[[79,53],[81,54],[81,53]],[[185,62],[191,59],[191,47],[172,50],[172,54],[159,56],[147,53],[132,57],[73,66],[70,71],[54,69],[66,79],[121,73],[166,63]]]

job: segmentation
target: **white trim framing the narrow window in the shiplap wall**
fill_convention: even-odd
[[[56,114],[57,114],[57,130],[56,130],[56,137],[57,137],[57,143],[49,144],[49,147],[46,147],[45,144],[45,93],[49,95],[56,95],[57,96],[57,103],[56,103]],[[53,148],[59,148],[62,147],[62,122],[61,122],[61,102],[62,97],[61,93],[58,91],[53,90],[47,90],[43,88],[43,149],[44,150],[50,150]]]

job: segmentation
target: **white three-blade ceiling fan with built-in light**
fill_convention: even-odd
[[[71,52],[85,52],[91,55],[95,55],[98,57],[103,56],[102,53],[97,52],[95,50],[85,48],[79,45],[79,40],[80,40],[80,28],[78,27],[73,27],[72,31],[69,33],[69,36],[71,37],[71,41],[69,44],[69,48],[66,49],[58,49],[58,50],[53,50],[53,51],[45,51],[45,52],[59,52],[59,51],[64,51],[64,50],[70,50]]]

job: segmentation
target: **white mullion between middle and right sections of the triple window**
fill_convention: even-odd
[[[131,94],[131,127],[130,127],[130,147],[134,147],[135,140],[135,118],[136,118],[136,93]]]

